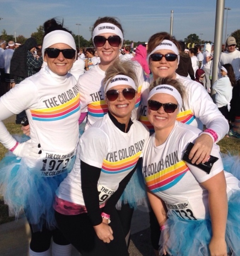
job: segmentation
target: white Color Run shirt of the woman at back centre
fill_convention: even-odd
[[[137,119],[137,111],[140,111],[140,95],[142,83],[144,82],[144,73],[142,67],[137,62],[135,63],[136,74],[139,82],[137,85],[137,102],[131,116],[132,119]],[[104,77],[105,71],[101,70],[97,65],[81,75],[77,81],[78,90],[80,92],[81,112],[88,112],[85,130],[87,130],[97,120],[103,118],[108,111],[103,86],[101,85]]]

